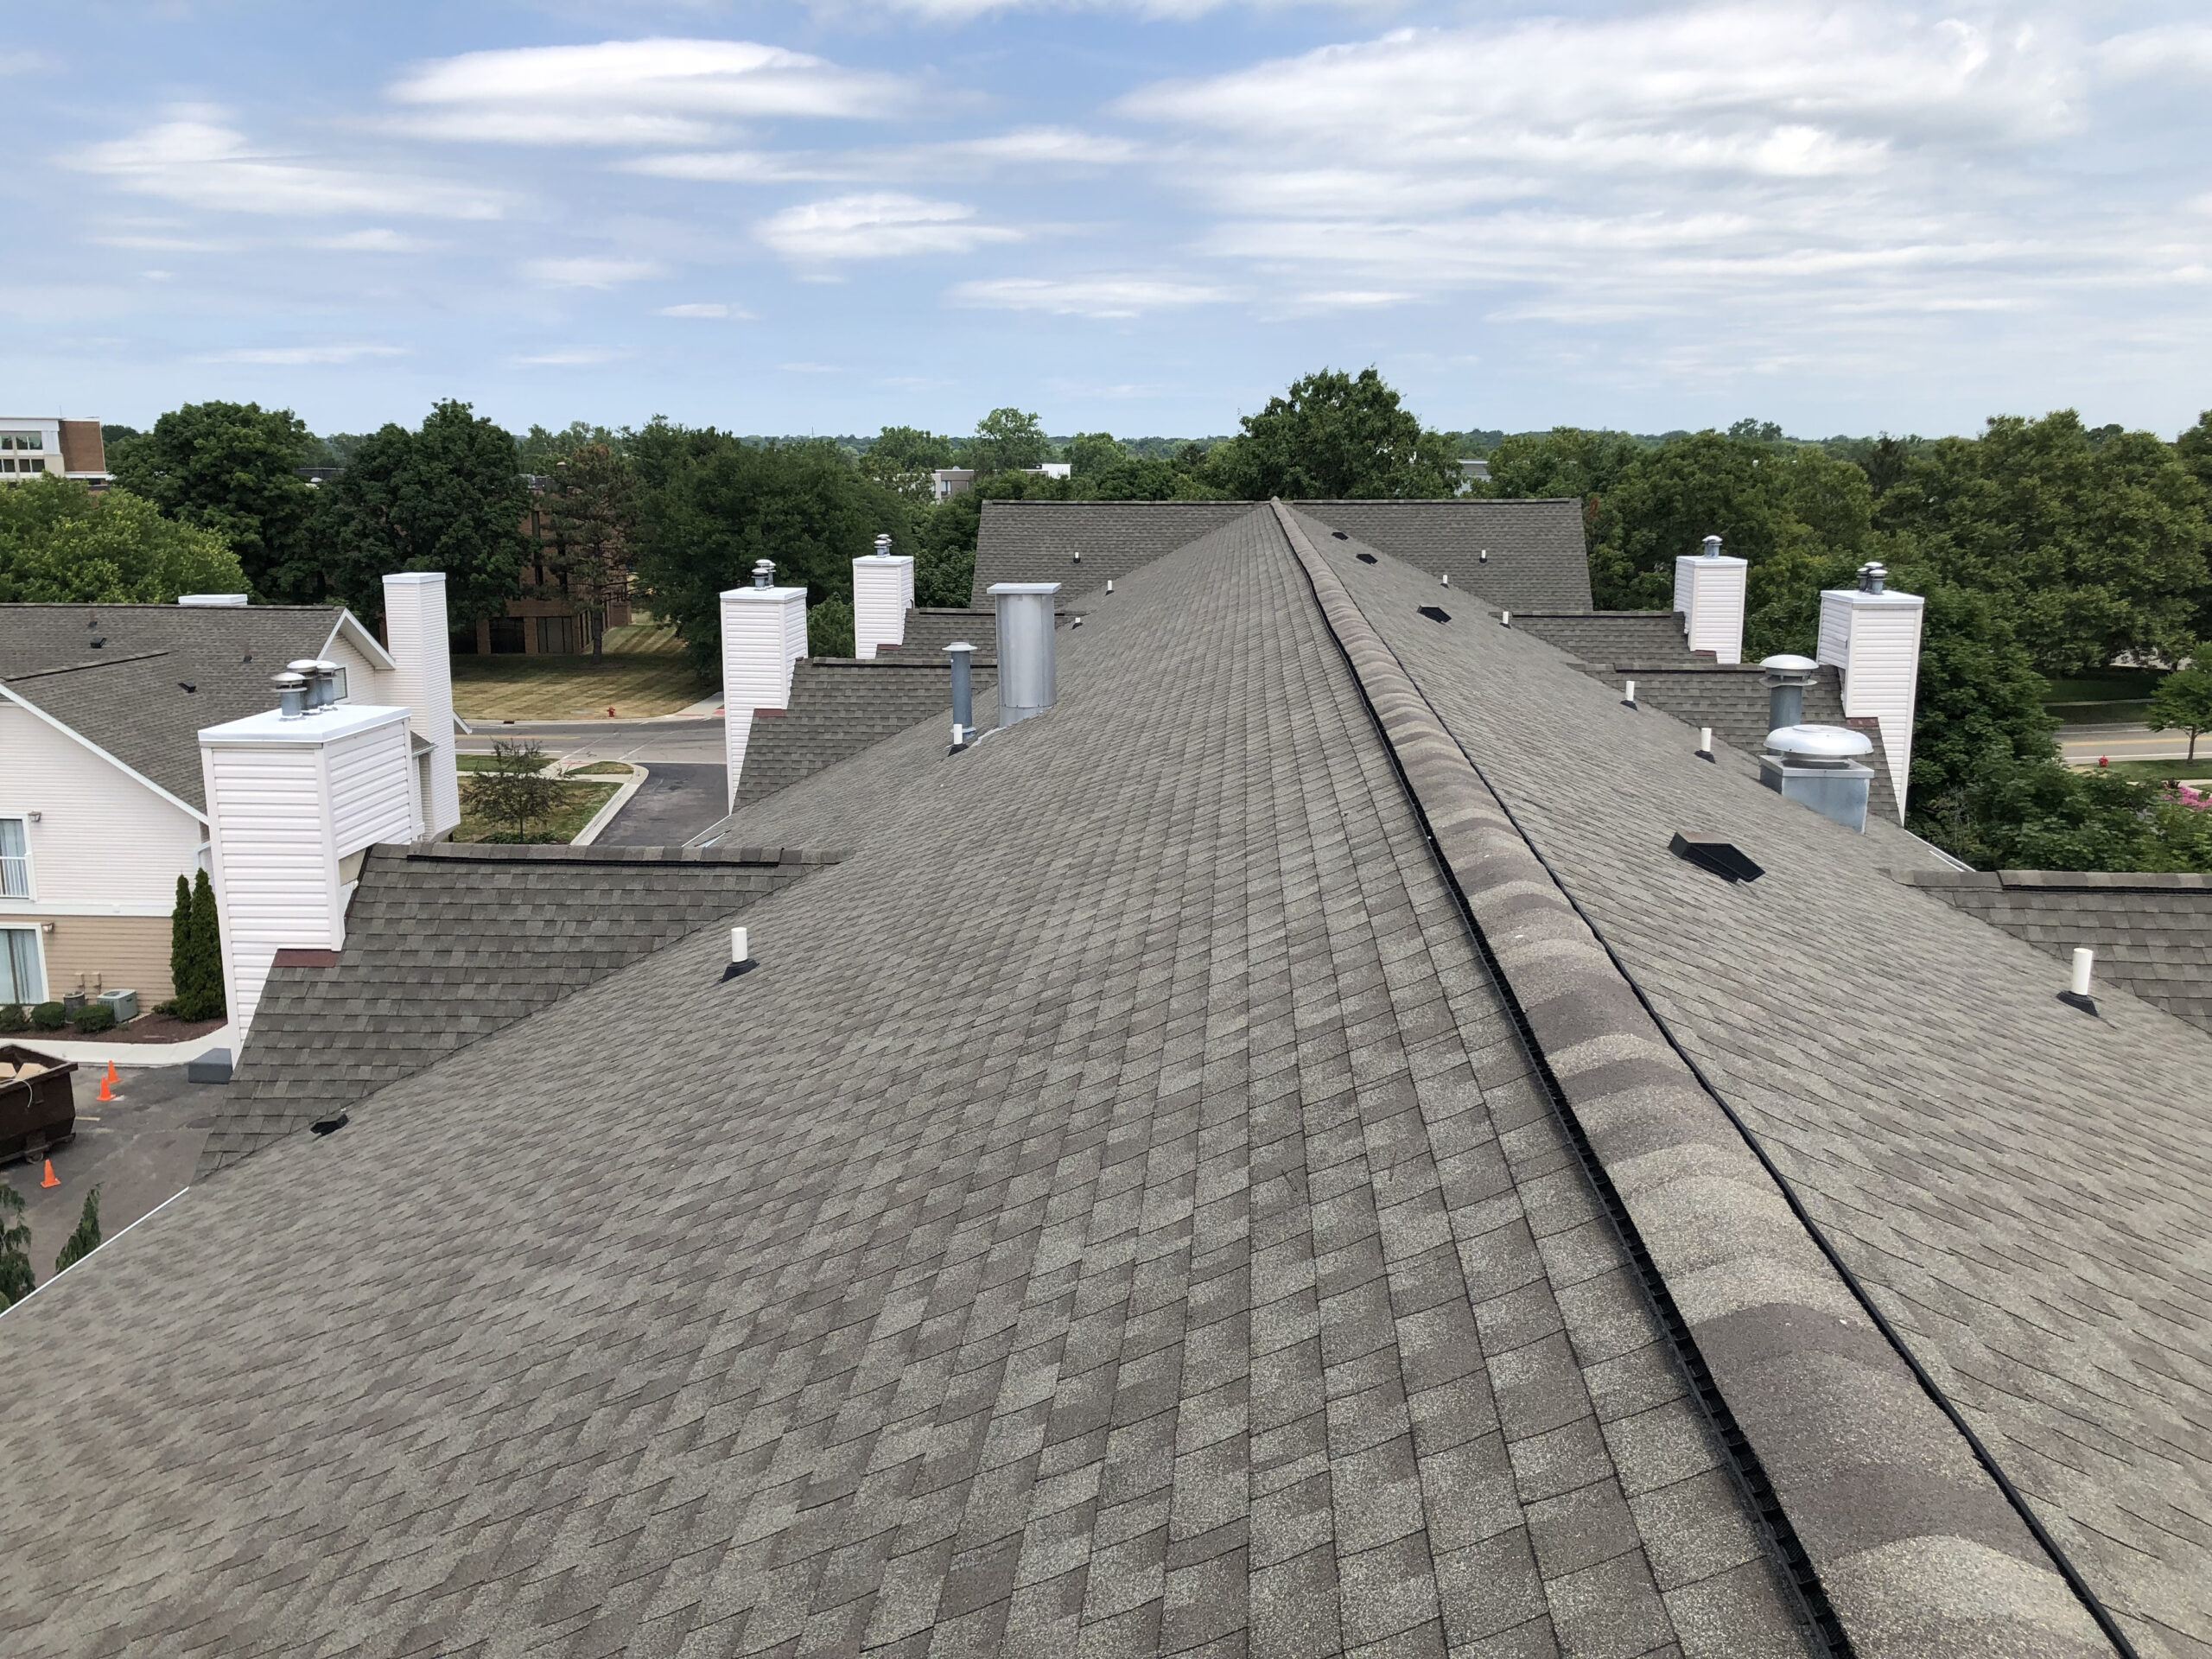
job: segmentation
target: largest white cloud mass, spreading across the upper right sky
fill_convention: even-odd
[[[2086,126],[2086,62],[2017,22],[1736,2],[1400,29],[1117,111],[1172,133],[1166,177],[1212,215],[1194,250],[1294,307],[1489,288],[1805,332],[2128,259],[2117,226],[2051,223],[2028,164]]]

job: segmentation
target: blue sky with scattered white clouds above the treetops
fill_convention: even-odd
[[[1440,427],[2212,407],[2201,4],[80,0],[9,35],[7,411],[1210,434],[1367,363]]]

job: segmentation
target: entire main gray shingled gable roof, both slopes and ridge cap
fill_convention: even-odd
[[[11,1639],[2110,1652],[2079,1566],[2212,1641],[2208,1040],[1356,551],[1148,562],[1046,717],[734,814],[849,849],[752,973],[637,958],[0,1318]]]

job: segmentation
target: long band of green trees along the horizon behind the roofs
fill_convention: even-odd
[[[2212,416],[2174,442],[2073,411],[1993,418],[1973,438],[1792,440],[1772,422],[1639,436],[1425,427],[1376,369],[1323,369],[1230,438],[1055,442],[1002,407],[971,434],[883,427],[869,440],[750,438],[664,418],[515,438],[469,405],[420,427],[316,438],[283,409],[188,405],[117,434],[117,489],[0,491],[0,599],[173,597],[248,588],[378,615],[387,571],[442,568],[458,624],[529,580],[577,608],[635,582],[710,672],[723,588],[754,560],[803,584],[810,648],[852,650],[852,557],[889,533],[920,604],[967,604],[989,500],[1453,495],[1486,453],[1500,498],[1584,507],[1599,608],[1661,608],[1672,562],[1719,533],[1750,560],[1747,650],[1809,653],[1823,588],[1867,560],[1927,595],[1911,825],[1978,865],[2212,869],[2212,814],[2170,790],[2073,772],[2048,681],[2110,664],[2163,677],[2159,708],[2212,726]],[[1048,460],[1066,476],[1048,476]],[[301,469],[338,462],[307,482]],[[931,471],[973,489],[936,500]],[[524,476],[551,480],[533,493]],[[524,533],[538,513],[540,535]]]

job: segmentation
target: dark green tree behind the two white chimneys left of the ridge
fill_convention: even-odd
[[[657,420],[630,453],[646,487],[639,573],[701,672],[721,650],[719,595],[750,584],[757,560],[774,560],[776,582],[805,586],[810,604],[849,602],[852,562],[878,533],[916,542],[916,507],[863,478],[834,442],[748,445]],[[925,546],[918,577],[929,575],[927,555]],[[931,599],[925,588],[922,602]]]

